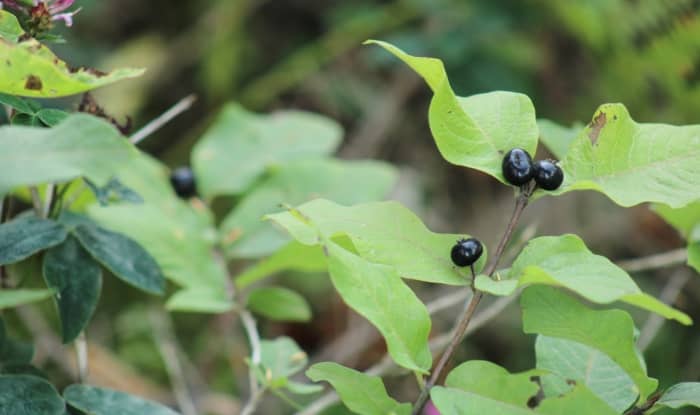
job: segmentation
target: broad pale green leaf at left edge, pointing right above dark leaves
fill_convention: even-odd
[[[54,128],[0,128],[0,193],[79,176],[102,185],[136,151],[108,122],[73,114]]]

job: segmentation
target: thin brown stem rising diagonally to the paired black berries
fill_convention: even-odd
[[[510,222],[508,222],[506,231],[503,233],[503,236],[501,237],[501,240],[498,243],[498,247],[496,247],[496,252],[493,255],[493,259],[484,270],[484,274],[488,275],[489,277],[491,277],[496,271],[496,267],[498,267],[498,263],[500,262],[501,257],[503,256],[503,252],[506,249],[506,244],[508,244],[510,237],[513,235],[513,231],[515,230],[515,227],[518,224],[518,221],[520,220],[520,217],[522,216],[525,207],[527,206],[527,203],[530,199],[530,195],[532,194],[533,190],[534,187],[529,184],[523,186],[520,189],[520,194],[518,195],[518,199],[515,203],[515,209],[513,210],[513,215],[510,218]],[[472,284],[474,279],[476,278],[476,275],[474,274],[474,270],[472,269]],[[415,405],[413,405],[412,415],[419,415],[421,411],[423,411],[423,407],[428,401],[428,396],[430,395],[430,389],[433,386],[435,386],[440,380],[442,372],[445,370],[447,363],[450,361],[452,355],[457,349],[457,346],[459,345],[459,343],[461,343],[462,339],[464,338],[464,333],[466,333],[467,328],[469,327],[469,323],[471,322],[472,317],[474,316],[474,312],[476,311],[476,308],[483,297],[483,292],[474,289],[474,295],[469,300],[469,304],[467,304],[467,308],[464,310],[464,313],[462,313],[462,316],[459,319],[459,323],[457,324],[457,329],[455,329],[450,343],[447,345],[447,348],[445,348],[445,351],[440,356],[437,365],[435,365],[435,368],[433,369],[433,373],[431,374],[430,379],[425,383],[425,387],[423,388],[423,390],[421,390],[421,393],[418,396]]]

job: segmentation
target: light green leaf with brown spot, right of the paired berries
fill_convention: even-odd
[[[682,207],[700,194],[699,164],[700,125],[640,124],[624,105],[605,104],[571,143],[564,183],[548,194],[596,190],[621,206]]]

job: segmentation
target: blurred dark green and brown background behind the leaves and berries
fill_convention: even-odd
[[[59,56],[102,70],[148,68],[142,78],[94,94],[109,114],[118,120],[131,117],[138,127],[182,97],[197,95],[191,110],[142,145],[168,165],[188,163],[195,140],[230,101],[259,112],[294,108],[325,114],[345,128],[340,157],[396,164],[401,179],[393,198],[433,230],[468,232],[492,249],[512,207],[511,190],[442,160],[427,125],[429,89],[387,53],[361,46],[364,40],[387,40],[412,54],[443,59],[455,91],[463,96],[497,89],[526,93],[538,117],[564,125],[588,122],[604,102],[624,103],[637,121],[700,122],[697,0],[76,3],[83,10],[72,29],[61,30],[68,42],[53,47]],[[58,104],[75,108],[77,103],[78,98]],[[235,168],[231,166],[232,172]],[[578,233],[594,252],[612,260],[682,246],[675,232],[646,207],[622,209],[597,193],[539,200],[523,223],[532,225],[525,231],[537,234]],[[658,295],[673,272],[635,277],[643,289]],[[277,278],[309,297],[314,320],[286,325],[263,320],[264,335],[295,338],[312,360],[342,360],[343,345],[329,345],[347,327],[362,324],[359,317],[329,294],[323,276]],[[450,291],[423,284],[414,288],[424,299]],[[106,368],[96,370],[116,370],[105,362],[127,364],[135,369],[131,382],[148,379],[155,384],[140,387],[152,387],[157,396],[167,377],[143,319],[150,300],[121,286],[105,287],[104,292],[91,337],[110,354],[97,360]],[[697,275],[676,305],[700,321]],[[439,314],[435,328],[447,330],[458,311]],[[647,317],[634,316],[638,325]],[[175,315],[178,336],[202,384],[235,395],[239,388],[245,390],[246,348],[242,336],[234,344],[222,342],[219,336],[229,323]],[[697,326],[667,323],[651,344],[646,353],[649,371],[663,386],[700,380],[699,332]],[[533,340],[520,331],[517,307],[510,307],[465,343],[459,359],[486,358],[511,371],[523,370],[533,366]],[[374,336],[367,341],[367,351],[344,363],[366,368],[381,357],[383,343]],[[231,349],[236,352],[228,353]],[[231,367],[240,379],[231,379]],[[395,384],[400,388],[404,383],[411,385],[410,379]],[[414,387],[407,386],[399,397],[410,398]],[[218,408],[227,404],[231,402],[224,399]],[[266,405],[261,413],[291,411],[274,398]]]

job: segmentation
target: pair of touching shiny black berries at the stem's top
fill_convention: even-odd
[[[514,148],[503,157],[503,177],[513,186],[522,186],[535,179],[544,190],[556,190],[564,181],[564,172],[551,160],[533,163],[527,151]]]

